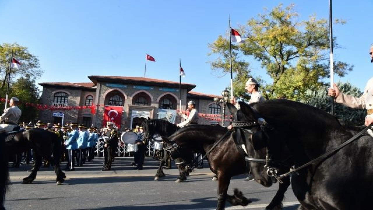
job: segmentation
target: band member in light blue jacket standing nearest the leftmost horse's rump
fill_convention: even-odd
[[[69,161],[65,170],[75,170],[75,152],[78,149],[78,143],[76,140],[79,138],[78,123],[70,123],[71,132],[67,136],[64,136],[66,149],[68,150]]]

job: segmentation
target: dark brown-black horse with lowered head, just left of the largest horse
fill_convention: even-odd
[[[206,153],[218,139],[225,136],[208,154],[210,169],[218,177],[218,204],[216,209],[224,209],[226,200],[234,206],[246,206],[251,203],[251,201],[245,198],[242,192],[237,189],[234,190],[234,195],[228,195],[227,193],[231,178],[248,172],[248,167],[244,160],[245,156],[239,152],[233,142],[232,135],[234,134],[227,132],[229,131],[226,127],[190,125],[178,130],[169,138],[163,137],[163,140],[170,145],[174,143],[177,145],[177,147],[171,150],[171,156],[173,158],[183,157],[184,161],[190,164],[191,160],[188,160],[188,157],[184,158],[184,154],[190,154],[192,152]],[[265,152],[263,153],[265,154]],[[257,163],[251,163],[251,165],[256,164]],[[256,181],[264,186],[270,186],[272,184],[272,179],[266,176],[266,172],[263,170],[261,173],[263,174],[256,176]],[[278,203],[278,205],[280,205],[280,203]]]

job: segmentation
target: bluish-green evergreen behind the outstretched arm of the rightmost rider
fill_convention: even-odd
[[[351,83],[337,83],[338,89],[347,95],[360,97],[363,93],[357,87],[352,86]],[[330,96],[327,95],[327,88],[329,86],[324,85],[317,90],[306,92],[306,99],[301,102],[323,109],[324,111],[331,112],[332,105],[330,102]],[[362,109],[352,109],[343,104],[334,104],[334,113],[338,119],[344,121],[344,123],[352,125],[362,125],[365,120],[366,111]]]

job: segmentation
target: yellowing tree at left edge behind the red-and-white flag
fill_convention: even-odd
[[[0,90],[6,87],[6,81],[9,74],[10,57],[17,59],[22,65],[20,68],[12,68],[10,78],[26,77],[35,79],[41,76],[43,71],[39,69],[39,60],[37,56],[28,52],[27,47],[20,46],[17,43],[0,45]]]

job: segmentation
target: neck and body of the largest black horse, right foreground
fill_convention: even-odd
[[[289,153],[296,168],[332,151],[354,134],[333,115],[299,102],[277,99],[254,104],[252,108],[240,105],[240,111],[251,122],[265,120],[263,129],[250,135],[251,150],[265,158],[257,151],[267,148],[273,160]],[[371,209],[372,154],[373,139],[364,135],[294,173],[292,189],[301,203],[299,209]]]

